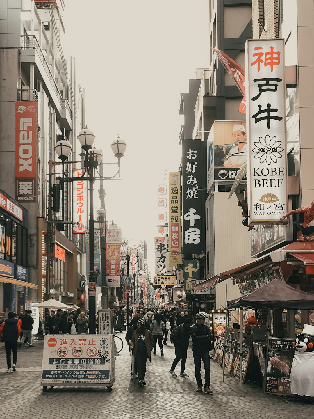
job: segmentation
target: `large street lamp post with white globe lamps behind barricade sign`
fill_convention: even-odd
[[[80,145],[85,153],[83,153],[84,159],[84,170],[81,176],[79,177],[69,177],[64,172],[64,164],[68,163],[77,163],[77,162],[66,162],[67,158],[71,153],[72,146],[68,141],[61,140],[58,141],[56,146],[54,147],[59,159],[62,161],[62,181],[63,182],[73,182],[79,180],[88,180],[89,181],[89,191],[90,191],[90,216],[89,216],[89,234],[90,234],[90,272],[88,277],[88,309],[89,309],[89,333],[95,334],[96,333],[96,275],[95,275],[95,246],[94,246],[94,183],[95,179],[102,178],[102,179],[112,179],[114,177],[120,178],[120,159],[124,155],[124,151],[126,149],[126,143],[121,140],[117,139],[116,142],[113,141],[111,144],[111,148],[113,153],[118,158],[118,172],[115,176],[111,178],[104,178],[103,176],[96,177],[95,171],[98,173],[98,166],[100,165],[103,155],[102,152],[95,147],[92,148],[95,134],[85,127],[80,131],[78,135],[78,139],[80,141]],[[49,162],[49,168],[53,166],[53,164],[58,164],[55,162]],[[60,164],[60,163],[59,163]],[[109,163],[113,164],[113,163]],[[49,170],[50,172],[50,170]],[[87,177],[85,176],[87,173]],[[118,175],[118,176],[117,176]]]

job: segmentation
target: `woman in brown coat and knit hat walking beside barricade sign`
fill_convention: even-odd
[[[146,321],[140,318],[136,323],[130,348],[133,349],[134,359],[137,365],[137,375],[139,376],[138,385],[145,385],[145,373],[147,358],[150,361],[150,354],[153,349],[154,339],[152,333],[145,328]]]

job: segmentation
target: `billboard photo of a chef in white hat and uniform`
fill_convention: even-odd
[[[214,178],[234,180],[247,160],[245,121],[214,122]]]

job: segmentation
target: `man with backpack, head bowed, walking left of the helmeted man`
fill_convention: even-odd
[[[171,339],[172,342],[175,344],[175,359],[173,360],[169,371],[172,377],[177,377],[175,373],[175,367],[178,365],[180,360],[180,377],[188,377],[188,374],[186,374],[184,370],[190,341],[190,327],[192,326],[192,324],[192,319],[187,318],[183,324],[180,324],[180,326],[176,327],[172,331]]]

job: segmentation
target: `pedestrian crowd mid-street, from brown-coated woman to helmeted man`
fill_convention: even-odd
[[[212,394],[210,388],[210,355],[209,351],[213,349],[213,336],[210,328],[206,324],[208,319],[207,313],[196,313],[196,321],[193,324],[192,317],[187,310],[177,312],[165,310],[159,313],[157,310],[147,309],[145,313],[143,309],[136,310],[134,317],[131,319],[125,339],[129,344],[129,350],[133,351],[134,367],[131,375],[135,374],[138,379],[138,385],[146,385],[146,363],[151,361],[151,352],[157,355],[157,343],[160,348],[161,356],[164,356],[163,346],[167,345],[168,333],[170,331],[170,343],[175,346],[175,359],[170,367],[170,375],[173,378],[178,377],[175,368],[181,360],[180,377],[188,378],[185,372],[185,364],[188,356],[188,347],[190,338],[192,339],[192,355],[195,367],[195,378],[197,389],[196,392],[205,392]],[[201,361],[205,371],[204,390],[201,375]]]

